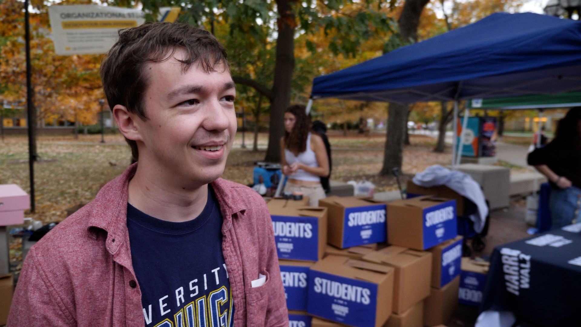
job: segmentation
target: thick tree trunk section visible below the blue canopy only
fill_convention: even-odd
[[[388,131],[383,152],[383,167],[379,175],[391,175],[393,168],[401,169],[403,160],[403,141],[406,132],[401,123],[407,118],[407,105],[389,104],[388,107]]]

